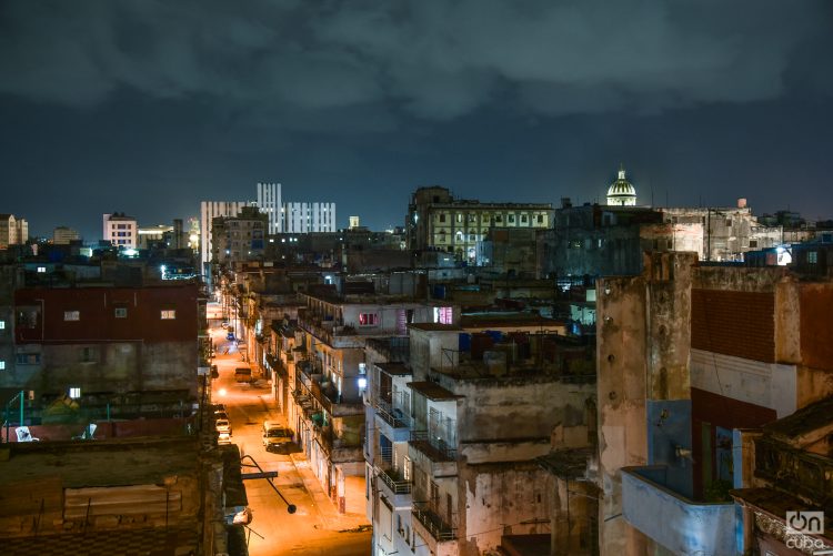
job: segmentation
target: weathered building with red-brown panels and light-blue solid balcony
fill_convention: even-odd
[[[833,284],[665,253],[640,276],[601,279],[596,292],[601,554],[745,554],[775,542],[773,554],[793,554],[783,534],[742,522],[754,512],[740,512],[731,492],[760,486],[753,477],[770,465],[743,431],[833,393]],[[783,506],[757,503],[783,532]],[[740,529],[751,533],[739,539]]]

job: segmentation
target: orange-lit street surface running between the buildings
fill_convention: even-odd
[[[289,514],[287,504],[265,479],[245,482],[249,507],[253,519],[247,530],[249,554],[278,555],[338,555],[364,556],[370,554],[371,533],[361,527],[368,520],[363,515],[340,515],[324,494],[309,468],[309,462],[299,452],[277,454],[267,452],[261,439],[264,421],[287,425],[272,398],[268,381],[238,383],[234,370],[249,364],[234,342],[225,338],[220,327],[219,305],[208,305],[211,340],[217,348],[214,364],[219,378],[212,381],[212,402],[224,404],[232,427],[231,441],[241,456],[251,456],[263,471],[275,471],[274,485],[290,504],[297,506]],[[244,463],[249,463],[244,458]],[[244,473],[257,472],[244,468]]]

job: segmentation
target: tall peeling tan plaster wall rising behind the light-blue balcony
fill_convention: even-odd
[[[665,464],[670,482],[691,491],[691,472],[674,449],[691,449],[695,263],[695,253],[654,253],[645,256],[642,276],[596,285],[602,555],[642,554],[652,544],[621,517],[621,467]]]

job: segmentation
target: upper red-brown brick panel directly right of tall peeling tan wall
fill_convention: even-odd
[[[691,346],[774,363],[775,295],[692,290]]]

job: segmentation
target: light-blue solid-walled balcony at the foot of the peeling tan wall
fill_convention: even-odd
[[[735,553],[734,504],[695,502],[665,486],[664,465],[622,468],[622,514],[674,554]]]

